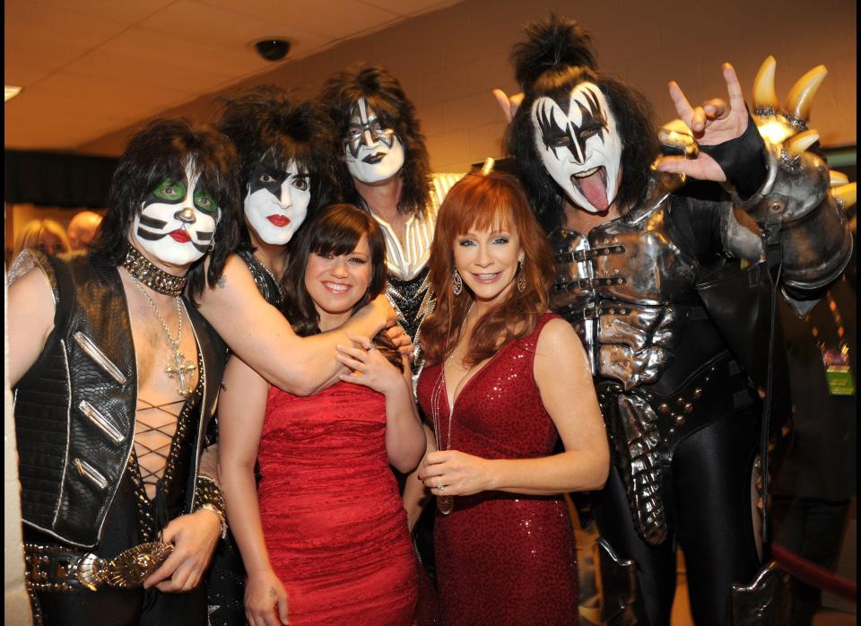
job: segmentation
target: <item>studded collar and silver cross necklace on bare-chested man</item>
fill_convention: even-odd
[[[179,295],[182,293],[182,289],[178,290],[178,286],[181,284],[182,287],[185,287],[185,276],[174,276],[164,272],[131,246],[129,246],[129,252],[126,256],[126,261],[123,263],[123,267],[126,268],[126,271],[132,277],[132,282],[135,284],[137,291],[140,291],[146,301],[150,303],[150,307],[152,307],[152,311],[155,313],[155,317],[158,318],[159,324],[161,324],[161,328],[168,338],[168,343],[170,343],[173,349],[173,354],[170,356],[170,360],[164,371],[170,378],[177,379],[177,390],[180,396],[190,396],[191,388],[188,386],[188,380],[196,370],[196,366],[191,361],[187,361],[182,352],[179,352],[179,345],[182,342],[183,316],[182,305],[179,303]],[[179,320],[176,338],[170,333],[168,323],[162,317],[158,305],[155,303],[155,300],[152,300],[143,285],[146,285],[146,287],[149,287],[153,291],[169,295],[174,299],[177,305],[177,317]]]

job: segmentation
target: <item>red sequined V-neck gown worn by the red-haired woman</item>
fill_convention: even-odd
[[[552,454],[559,436],[533,376],[535,343],[552,317],[542,317],[531,335],[503,347],[466,382],[451,416],[452,449],[483,458]],[[441,364],[425,365],[419,378],[429,420],[440,374]],[[444,384],[438,388],[439,441],[446,448],[448,394]],[[444,623],[578,623],[577,557],[561,496],[484,491],[454,503],[448,516],[437,511],[434,522]]]

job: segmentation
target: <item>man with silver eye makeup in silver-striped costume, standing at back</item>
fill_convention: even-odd
[[[329,78],[319,100],[334,125],[333,150],[343,155],[344,201],[368,210],[386,235],[387,295],[413,339],[418,375],[422,319],[433,309],[427,264],[437,210],[460,175],[431,177],[415,108],[387,70],[355,65]]]

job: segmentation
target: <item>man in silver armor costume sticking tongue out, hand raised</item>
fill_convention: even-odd
[[[671,83],[681,122],[655,135],[648,103],[597,70],[576,22],[530,25],[513,58],[523,94],[501,102],[516,110],[509,152],[549,233],[553,308],[587,347],[613,450],[594,500],[602,617],[669,623],[681,546],[698,625],[781,623],[779,577],[758,553],[768,518],[752,506],[788,414],[772,390],[774,298],[803,311],[852,248],[806,127],[824,68],[781,109],[767,61],[755,120],[728,64],[728,101],[691,107]],[[653,169],[657,136],[667,156]],[[685,175],[729,195],[682,187]]]

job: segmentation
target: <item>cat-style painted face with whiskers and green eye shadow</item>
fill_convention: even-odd
[[[185,180],[163,180],[143,197],[132,229],[140,247],[156,260],[190,265],[206,254],[220,213],[199,182],[187,168]]]

